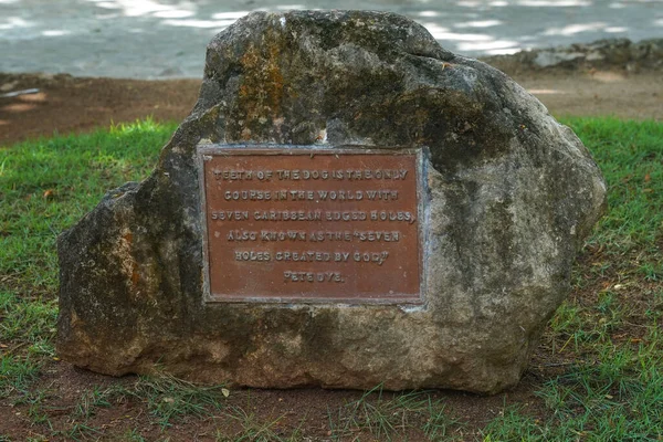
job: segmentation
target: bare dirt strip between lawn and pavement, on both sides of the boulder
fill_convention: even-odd
[[[514,69],[514,78],[556,116],[606,116],[663,120],[663,75],[627,71]],[[81,78],[0,74],[0,145],[40,136],[87,131],[152,116],[182,120],[200,81]],[[38,88],[34,94],[2,97]]]

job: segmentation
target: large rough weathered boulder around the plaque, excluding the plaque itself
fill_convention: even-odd
[[[320,137],[326,134],[326,139]],[[425,304],[207,304],[197,144],[430,148]],[[515,385],[602,210],[589,152],[503,73],[389,13],[252,13],[141,183],[59,240],[62,358],[253,387]]]

